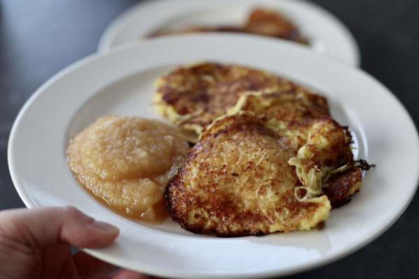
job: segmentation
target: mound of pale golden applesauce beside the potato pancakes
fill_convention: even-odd
[[[163,218],[163,193],[189,144],[161,121],[109,115],[71,140],[67,163],[82,186],[131,218]]]

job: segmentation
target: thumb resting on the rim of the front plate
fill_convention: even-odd
[[[117,227],[98,222],[72,206],[0,212],[0,236],[31,248],[58,243],[99,248],[112,243],[118,234]]]

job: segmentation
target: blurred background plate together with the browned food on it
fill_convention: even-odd
[[[98,51],[151,36],[203,31],[256,33],[294,40],[314,52],[360,65],[358,45],[344,24],[316,4],[301,0],[138,3],[109,25]]]

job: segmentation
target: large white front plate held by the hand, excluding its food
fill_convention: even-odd
[[[159,118],[151,105],[154,79],[198,60],[261,68],[318,89],[328,96],[332,115],[352,128],[356,157],[377,167],[367,172],[351,203],[330,213],[324,229],[233,239],[199,236],[170,218],[147,225],[118,216],[75,181],[65,155],[71,137],[105,114]],[[205,34],[147,40],[62,70],[18,114],[8,160],[27,206],[71,204],[121,229],[112,246],[88,250],[96,257],[170,278],[260,278],[331,262],[388,229],[416,191],[419,140],[399,101],[356,68],[286,41]]]

